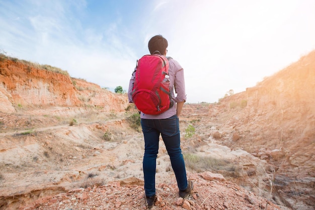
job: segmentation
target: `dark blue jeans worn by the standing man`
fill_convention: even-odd
[[[178,188],[185,190],[188,183],[181,150],[179,119],[177,115],[168,119],[141,119],[141,126],[144,136],[143,174],[145,195],[155,195],[156,157],[157,153],[159,153],[160,134],[170,156]]]

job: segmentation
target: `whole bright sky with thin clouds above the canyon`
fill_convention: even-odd
[[[187,102],[243,92],[315,49],[315,1],[0,0],[0,50],[101,87],[128,89],[161,34]]]

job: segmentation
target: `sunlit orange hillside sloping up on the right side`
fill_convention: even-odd
[[[293,209],[299,202],[315,206],[314,104],[312,51],[209,110],[211,121],[219,121],[232,131],[220,144],[246,150],[272,164],[274,193]]]

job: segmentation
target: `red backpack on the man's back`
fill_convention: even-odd
[[[137,61],[132,100],[144,114],[161,114],[174,104],[170,88],[162,81],[169,74],[169,60],[162,55],[144,55]]]

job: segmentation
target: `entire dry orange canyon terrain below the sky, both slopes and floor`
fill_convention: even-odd
[[[178,198],[161,142],[155,208],[314,209],[314,69],[315,51],[246,92],[185,104],[194,194]],[[10,59],[0,81],[0,209],[145,209],[126,95]]]

